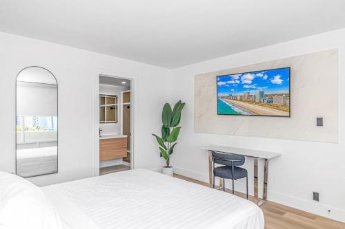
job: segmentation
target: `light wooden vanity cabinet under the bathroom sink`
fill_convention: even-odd
[[[120,159],[127,156],[127,138],[99,140],[99,161]]]

